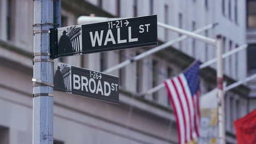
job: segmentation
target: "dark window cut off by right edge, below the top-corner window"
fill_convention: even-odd
[[[251,44],[247,48],[247,69],[248,74],[256,73],[256,44]]]

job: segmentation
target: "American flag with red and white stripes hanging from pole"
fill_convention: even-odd
[[[200,62],[195,61],[184,73],[165,81],[176,117],[179,143],[199,136]]]

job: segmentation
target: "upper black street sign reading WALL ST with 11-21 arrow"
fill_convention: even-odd
[[[52,32],[56,42],[53,58],[158,44],[156,15],[61,27]]]

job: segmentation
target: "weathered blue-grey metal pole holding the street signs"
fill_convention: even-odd
[[[53,144],[53,0],[34,0],[33,144]]]

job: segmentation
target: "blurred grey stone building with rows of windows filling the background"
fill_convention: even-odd
[[[256,73],[255,0],[62,0],[62,27],[77,24],[82,15],[136,17],[158,14],[158,21],[195,31],[209,23],[218,26],[203,33],[223,35],[224,52],[245,43],[243,50],[224,59],[228,84]],[[32,143],[33,1],[0,0],[0,144]],[[158,28],[159,45],[179,34]],[[152,49],[63,57],[57,61],[103,71]],[[165,89],[139,94],[181,73],[194,59],[206,62],[216,49],[187,39],[155,55],[127,65],[120,77],[120,105],[54,93],[54,143],[177,143],[176,122]],[[215,65],[201,70],[202,94],[216,87]],[[256,107],[256,80],[226,93],[226,141],[236,143],[233,122]]]

